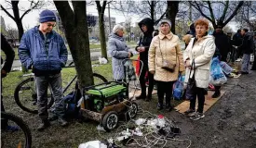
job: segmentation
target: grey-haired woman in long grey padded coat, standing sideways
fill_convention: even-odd
[[[113,33],[109,35],[108,41],[108,53],[112,56],[113,78],[117,81],[125,79],[122,61],[125,58],[133,56],[132,53],[128,51],[128,45],[123,38],[124,30],[125,28],[123,26],[119,24],[115,25],[112,31]]]

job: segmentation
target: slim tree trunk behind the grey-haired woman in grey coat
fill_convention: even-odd
[[[104,12],[107,5],[107,1],[95,1],[98,15],[99,15],[99,27],[100,27],[100,38],[101,38],[101,57],[108,59],[107,55],[107,45],[106,45],[106,36],[105,36],[105,25],[104,25]],[[110,2],[108,2],[110,3]]]

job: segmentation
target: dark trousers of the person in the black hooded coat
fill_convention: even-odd
[[[152,95],[153,88],[154,88],[154,75],[151,74],[148,71],[148,67],[145,66],[141,69],[141,77],[140,77],[140,84],[141,84],[141,95],[146,96],[146,80],[145,80],[145,75],[146,72],[148,72],[148,80],[149,80],[149,86],[148,86],[148,96]]]

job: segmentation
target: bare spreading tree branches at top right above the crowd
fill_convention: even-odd
[[[213,28],[217,25],[224,27],[233,19],[244,1],[191,1],[189,2],[200,14],[209,19]]]

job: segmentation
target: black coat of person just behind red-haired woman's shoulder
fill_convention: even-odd
[[[213,36],[215,37],[215,44],[219,49],[221,56],[226,57],[231,47],[228,36],[224,34],[223,31],[219,33],[214,31]]]

